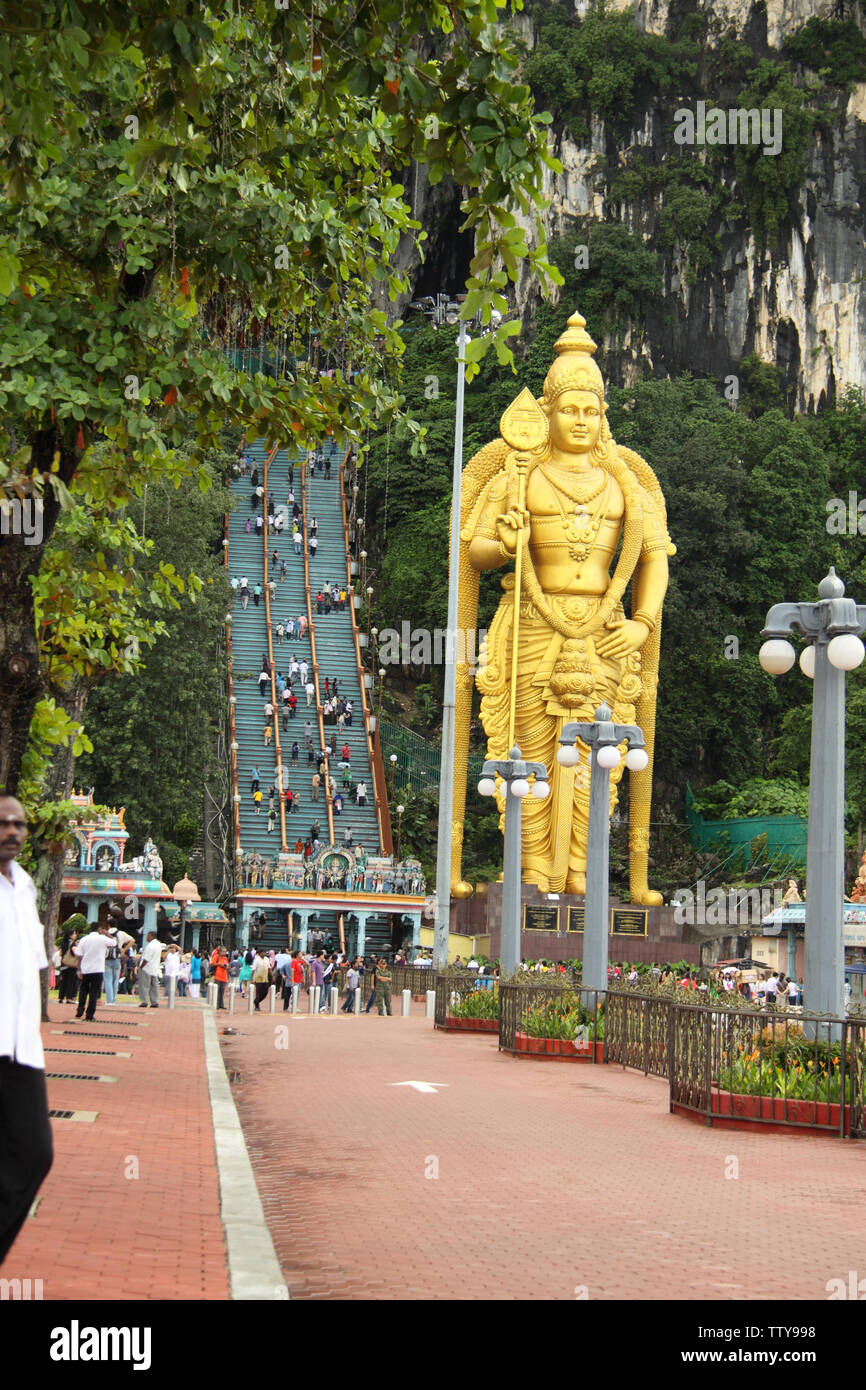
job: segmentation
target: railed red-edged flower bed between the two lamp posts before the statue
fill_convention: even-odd
[[[499,988],[499,1049],[518,1056],[599,1062],[605,1040],[605,991],[520,981]]]

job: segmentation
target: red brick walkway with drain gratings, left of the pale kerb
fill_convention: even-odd
[[[99,1008],[92,1024],[68,1026],[74,1008],[50,1002],[58,1022],[42,1029],[46,1072],[117,1081],[49,1080],[53,1109],[99,1113],[93,1123],[53,1120],[54,1166],[4,1279],[42,1279],[46,1300],[228,1298],[200,1009],[185,1002],[139,1011],[135,1001]],[[138,1179],[125,1177],[131,1158]]]

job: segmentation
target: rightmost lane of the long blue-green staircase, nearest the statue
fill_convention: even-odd
[[[354,656],[354,641],[352,637],[352,609],[350,598],[346,607],[338,613],[334,607],[329,614],[321,617],[316,613],[316,595],[320,587],[329,582],[331,587],[348,587],[346,577],[346,538],[343,532],[343,513],[339,493],[339,464],[341,450],[328,442],[325,457],[331,460],[331,477],[325,480],[324,470],[317,468],[316,477],[306,481],[306,520],[307,532],[313,517],[318,521],[318,552],[316,559],[310,557],[310,598],[313,606],[313,624],[316,630],[316,659],[318,662],[318,692],[324,703],[325,678],[336,678],[339,694],[352,701],[352,726],[341,735],[336,731],[338,751],[343,744],[352,749],[352,783],[367,784],[367,805],[357,806],[354,799],[345,796],[342,816],[334,817],[334,837],[336,844],[342,844],[343,831],[352,828],[353,844],[364,845],[367,853],[381,853],[379,824],[375,810],[375,787],[373,769],[370,766],[370,751],[367,731],[364,728],[364,702]],[[325,724],[325,738],[334,733],[334,726]],[[342,770],[332,762],[332,777],[341,785]]]

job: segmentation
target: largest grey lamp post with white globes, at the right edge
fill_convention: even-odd
[[[866,649],[866,606],[845,598],[845,585],[830,570],[817,587],[817,603],[774,603],[767,613],[758,660],[770,676],[791,670],[795,652],[788,634],[808,639],[799,667],[815,680],[809,831],[806,840],[806,960],[809,1011],[845,1012],[845,671]]]

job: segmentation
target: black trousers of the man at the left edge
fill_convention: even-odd
[[[44,1072],[0,1056],[0,1265],[53,1158]]]

